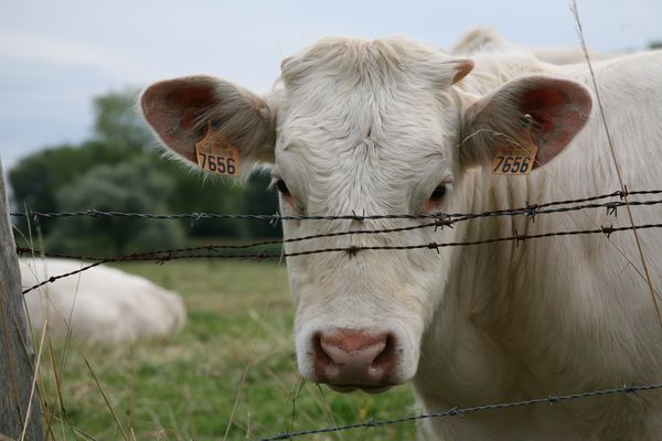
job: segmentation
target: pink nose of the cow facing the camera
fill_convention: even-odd
[[[353,388],[389,385],[396,364],[393,335],[342,330],[317,334],[313,338],[314,368],[320,383]]]

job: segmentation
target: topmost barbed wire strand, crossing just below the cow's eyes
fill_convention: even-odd
[[[577,211],[584,208],[598,208],[606,207],[608,209],[616,209],[619,206],[623,205],[654,205],[660,204],[662,201],[612,201],[601,204],[589,204],[583,205],[580,207],[570,206],[570,207],[562,207],[555,209],[544,209],[552,206],[557,205],[572,205],[572,204],[583,204],[587,202],[599,201],[608,197],[620,197],[621,200],[624,196],[631,195],[653,195],[653,194],[662,194],[662,190],[641,190],[641,191],[616,191],[607,194],[602,194],[599,196],[590,196],[590,197],[581,197],[574,200],[565,200],[565,201],[554,201],[544,204],[526,204],[524,207],[520,208],[509,208],[509,209],[498,209],[482,213],[427,213],[427,214],[389,214],[389,215],[359,215],[359,214],[348,214],[348,215],[301,215],[301,216],[291,216],[291,215],[281,215],[279,213],[275,214],[221,214],[221,213],[182,213],[182,214],[150,214],[150,213],[124,213],[124,212],[100,212],[96,209],[86,209],[78,212],[62,212],[62,213],[44,213],[44,212],[12,212],[11,215],[15,217],[26,217],[26,218],[35,218],[35,217],[44,217],[44,218],[58,218],[58,217],[121,217],[121,218],[142,218],[142,219],[256,219],[256,220],[269,220],[273,223],[277,223],[280,220],[372,220],[372,219],[441,219],[441,220],[456,220],[456,219],[472,219],[477,217],[492,217],[492,216],[512,216],[512,215],[528,215],[535,216],[537,214],[545,213],[560,213],[568,211]]]

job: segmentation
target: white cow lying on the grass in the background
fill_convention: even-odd
[[[20,259],[19,263],[23,287],[86,265],[67,259]],[[35,335],[41,335],[47,319],[52,337],[66,335],[68,323],[72,334],[88,343],[166,336],[181,329],[186,318],[177,293],[104,266],[25,293],[25,308]]]

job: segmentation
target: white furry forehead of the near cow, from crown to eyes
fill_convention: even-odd
[[[286,60],[276,162],[288,185],[321,203],[405,200],[421,176],[448,173],[459,133],[447,61],[406,39],[331,39]]]

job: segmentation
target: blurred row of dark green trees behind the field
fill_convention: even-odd
[[[266,191],[269,181],[266,175],[256,175],[248,181],[245,187],[242,187],[233,184],[231,179],[196,173],[177,161],[162,158],[160,151],[150,148],[156,142],[135,109],[136,99],[137,90],[135,89],[113,92],[95,98],[93,103],[95,125],[89,140],[78,146],[52,147],[21,160],[9,173],[14,207],[21,211],[26,208],[36,212],[102,209],[99,202],[103,195],[106,198],[103,206],[109,211],[128,209],[127,204],[131,201],[129,205],[134,212],[153,212],[159,208],[157,213],[271,214],[277,211],[275,193]],[[128,169],[120,166],[127,163],[134,165]],[[135,163],[143,164],[143,168],[137,166]],[[106,168],[100,168],[103,165]],[[138,204],[142,201],[139,195],[146,192],[141,186],[152,186],[152,183],[148,181],[142,183],[142,179],[151,179],[141,175],[145,168],[150,172],[159,172],[159,178],[153,180],[162,185],[158,206],[150,203],[142,206]],[[130,171],[138,173],[138,176],[129,180],[127,173]],[[121,189],[119,185],[121,180],[118,181],[111,176],[116,172],[120,173],[122,179],[127,180],[126,182],[131,182],[131,190],[135,192],[134,200],[129,200],[126,194],[120,192],[127,189]],[[85,179],[83,179],[84,176]],[[95,189],[98,192],[96,201],[93,198],[92,190],[88,189]],[[106,223],[99,218],[88,220],[92,223],[81,226],[83,230],[87,232],[87,236],[92,235],[93,228],[97,229],[99,237],[107,233],[106,228],[110,228],[108,237],[114,239],[108,241],[108,249],[124,249],[128,245],[138,243],[138,238],[131,236],[128,244],[116,244],[116,240],[122,240],[122,236],[114,229],[120,230],[119,224]],[[115,220],[117,223],[128,222],[127,219]],[[65,228],[64,222],[77,225],[71,218],[62,222],[40,219],[44,235],[49,237],[53,233],[53,237],[47,241],[56,245],[58,249],[83,250],[86,248],[86,241],[73,238],[71,234],[75,232]],[[21,229],[25,230],[25,220],[18,224]],[[200,219],[191,222],[182,219],[179,224],[180,230],[184,230],[189,236],[200,238],[275,237],[280,235],[279,227],[274,228],[268,223],[259,220]],[[151,233],[145,233],[146,236],[156,237],[153,228],[170,227],[150,226],[150,228],[152,228]],[[67,235],[68,238],[66,238]],[[68,240],[68,245],[65,244],[65,240]],[[100,244],[99,240],[97,237],[94,243]],[[74,243],[78,243],[78,245]],[[102,246],[96,249],[100,250]]]

